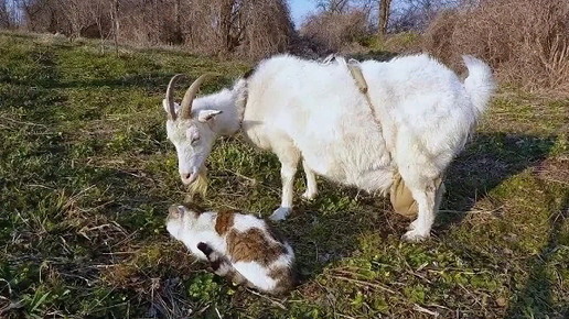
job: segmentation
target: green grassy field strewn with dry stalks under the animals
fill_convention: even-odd
[[[164,229],[186,190],[161,100],[175,73],[218,74],[211,92],[247,68],[0,34],[0,317],[569,317],[569,100],[507,90],[450,168],[431,240],[401,242],[387,200],[322,178],[302,201],[299,174],[278,228],[303,284],[273,299],[206,273]],[[203,205],[278,207],[277,158],[239,135],[207,166]]]

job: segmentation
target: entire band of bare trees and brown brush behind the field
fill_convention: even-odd
[[[294,25],[287,0],[0,0],[0,28],[253,59],[428,51],[458,66],[474,54],[508,84],[569,91],[569,0],[315,3]]]

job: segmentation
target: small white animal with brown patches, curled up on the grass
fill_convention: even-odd
[[[236,212],[169,209],[167,229],[211,271],[237,285],[280,295],[297,284],[294,253],[262,219]]]

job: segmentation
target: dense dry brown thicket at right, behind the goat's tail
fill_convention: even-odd
[[[451,65],[473,54],[506,84],[569,94],[569,2],[484,0],[447,11],[426,32],[423,48]]]

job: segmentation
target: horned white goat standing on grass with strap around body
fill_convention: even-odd
[[[469,77],[463,84],[425,54],[365,61],[359,68],[373,106],[342,58],[322,64],[275,56],[232,89],[194,99],[202,76],[181,106],[173,102],[174,77],[163,106],[182,182],[196,184],[204,177],[214,140],[241,128],[281,163],[282,202],[271,219],[290,213],[302,157],[308,179],[303,196],[309,199],[316,195],[315,174],[385,195],[399,173],[419,210],[404,239],[428,238],[439,202],[436,180],[464,147],[495,88],[487,65],[470,56],[464,62]]]

